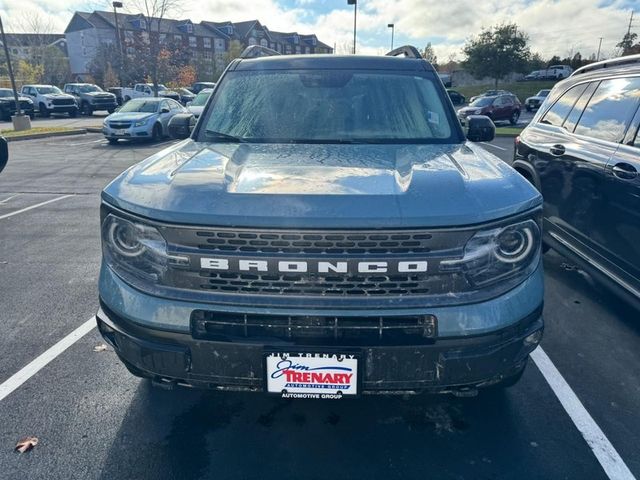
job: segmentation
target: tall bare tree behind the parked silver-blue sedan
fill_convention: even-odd
[[[179,14],[182,6],[181,0],[133,0],[130,2],[133,9],[144,17],[144,30],[146,31],[144,43],[147,44],[149,74],[153,82],[155,96],[158,96],[158,66],[160,64],[160,33],[163,21],[169,15]]]

